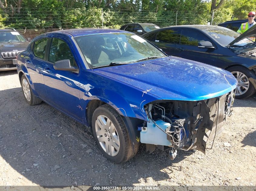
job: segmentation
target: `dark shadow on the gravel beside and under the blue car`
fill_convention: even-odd
[[[17,184],[21,175],[45,187],[168,180],[170,172],[185,171],[177,163],[194,152],[178,151],[171,161],[167,151],[157,148],[149,154],[141,144],[134,158],[113,164],[103,157],[85,126],[44,102],[29,106],[21,88],[0,95],[0,155],[20,173],[14,177]]]

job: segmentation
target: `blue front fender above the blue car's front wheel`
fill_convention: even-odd
[[[99,83],[99,81],[104,83]],[[145,92],[93,70],[84,70],[79,87],[81,106],[84,109],[88,107],[89,101],[100,100],[111,105],[122,116],[142,120],[148,120],[143,106],[153,100],[161,99],[151,94],[150,91]],[[86,113],[83,112],[83,117],[85,117]]]

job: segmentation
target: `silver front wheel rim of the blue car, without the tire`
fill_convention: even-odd
[[[112,121],[105,115],[100,115],[95,121],[95,132],[102,149],[114,157],[120,149],[117,130]]]

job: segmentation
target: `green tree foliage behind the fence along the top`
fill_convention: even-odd
[[[182,25],[211,21],[211,1],[205,0],[22,0],[20,11],[15,2],[9,0],[8,7],[2,8],[0,27],[101,28],[102,19],[106,28],[119,28],[133,22],[151,22],[165,27],[176,22]],[[253,10],[256,4],[252,0],[225,0],[214,10],[213,24],[247,18],[248,12]]]

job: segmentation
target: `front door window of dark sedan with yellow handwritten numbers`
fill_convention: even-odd
[[[187,30],[187,29],[181,30],[180,44],[198,46],[199,42],[204,42],[204,41],[210,41],[210,40],[204,34],[196,30]]]

